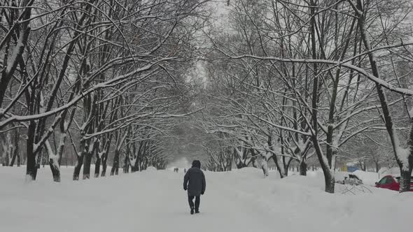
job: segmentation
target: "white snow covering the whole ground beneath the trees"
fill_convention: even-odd
[[[0,167],[0,231],[412,231],[413,193],[369,187],[356,194],[323,177],[264,178],[255,168],[206,173],[200,215],[190,215],[183,173],[144,171],[62,182],[50,171],[24,182],[24,168]]]

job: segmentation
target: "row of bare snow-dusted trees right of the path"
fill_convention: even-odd
[[[340,164],[371,161],[378,171],[394,161],[400,191],[409,189],[410,1],[238,0],[227,10],[225,23],[205,29],[203,127],[230,141],[214,165],[225,166],[221,154],[238,168],[273,159],[284,177],[292,163],[305,175],[316,157],[332,193]]]

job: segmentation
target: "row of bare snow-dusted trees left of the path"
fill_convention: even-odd
[[[193,66],[202,6],[0,1],[3,164],[24,159],[27,178],[35,180],[47,157],[57,182],[69,149],[76,157],[73,180],[82,166],[83,179],[90,177],[92,157],[95,177],[106,175],[109,157],[111,175],[121,157],[124,171],[165,168],[169,158],[160,143],[169,137],[171,118],[190,113],[184,70]]]

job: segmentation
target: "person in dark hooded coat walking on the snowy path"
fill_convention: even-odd
[[[205,187],[205,175],[201,170],[201,162],[199,160],[193,161],[192,168],[189,168],[183,177],[183,190],[188,189],[188,203],[190,207],[190,214],[200,212],[200,202],[201,196],[204,195]],[[193,199],[195,197],[195,205],[193,203]]]

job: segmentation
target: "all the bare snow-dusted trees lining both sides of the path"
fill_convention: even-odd
[[[0,2],[1,157],[31,180],[68,150],[73,180],[165,167],[179,134],[214,171],[317,159],[332,193],[347,161],[395,162],[409,188],[410,1]]]

